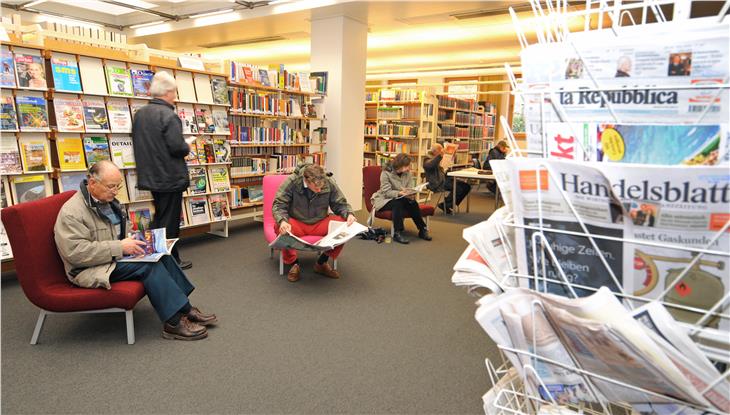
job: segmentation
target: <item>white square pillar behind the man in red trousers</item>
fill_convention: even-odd
[[[328,171],[352,208],[362,208],[367,25],[339,15],[312,19],[311,71],[327,71]]]

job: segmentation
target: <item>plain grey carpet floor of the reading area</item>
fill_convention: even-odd
[[[196,342],[162,339],[145,298],[134,345],[123,314],[76,314],[49,316],[31,346],[37,309],[4,275],[2,413],[483,413],[484,359],[497,351],[450,278],[462,229],[492,203],[475,194],[471,213],[435,217],[432,242],[349,243],[340,280],[303,254],[302,279],[287,282],[258,222],[188,238],[191,302],[220,320]]]

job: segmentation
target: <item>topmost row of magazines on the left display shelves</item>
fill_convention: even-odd
[[[143,99],[150,98],[149,88],[156,69],[143,64],[4,45],[0,59],[3,88],[46,90],[51,87],[48,81],[52,81],[57,92]],[[157,70],[175,77],[179,101],[230,104],[225,77],[178,69]]]

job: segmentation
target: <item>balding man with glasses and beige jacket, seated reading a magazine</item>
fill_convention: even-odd
[[[188,295],[194,287],[171,256],[159,262],[117,262],[125,255],[144,253],[144,242],[126,235],[126,213],[115,198],[121,185],[117,166],[100,161],[61,208],[53,231],[68,279],[80,287],[106,289],[116,281],[142,281],[164,323],[162,337],[207,337],[206,326],[217,318],[190,305]]]

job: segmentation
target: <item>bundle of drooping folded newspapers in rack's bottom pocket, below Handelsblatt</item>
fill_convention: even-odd
[[[605,287],[580,299],[516,289],[483,297],[476,319],[497,344],[521,351],[506,356],[532,396],[561,405],[626,402],[657,413],[727,412],[727,380],[701,352],[681,356],[691,340],[661,305],[646,312],[655,327]]]

